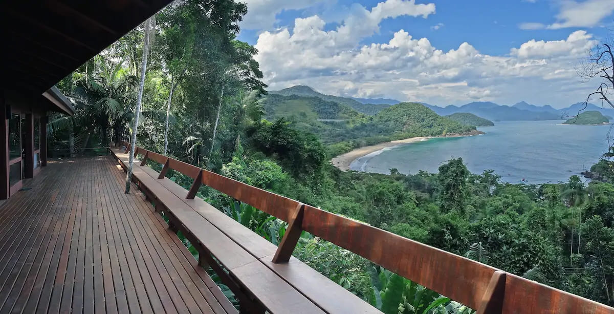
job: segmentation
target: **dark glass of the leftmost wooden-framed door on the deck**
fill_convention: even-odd
[[[21,116],[11,114],[9,119],[9,186],[10,194],[21,188],[23,178],[23,159],[21,157]]]

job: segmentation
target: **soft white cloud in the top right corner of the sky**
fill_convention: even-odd
[[[614,12],[614,0],[561,0],[556,22],[548,26],[542,23],[521,23],[521,29],[560,29],[569,27],[599,26],[605,17]]]

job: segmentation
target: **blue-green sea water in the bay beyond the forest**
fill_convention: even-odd
[[[509,183],[556,183],[580,175],[607,152],[610,125],[562,125],[562,121],[495,122],[483,135],[432,138],[373,152],[352,162],[352,170],[436,173],[462,157],[472,173],[492,169]],[[614,131],[612,131],[614,136]],[[614,143],[613,143],[614,144]]]

